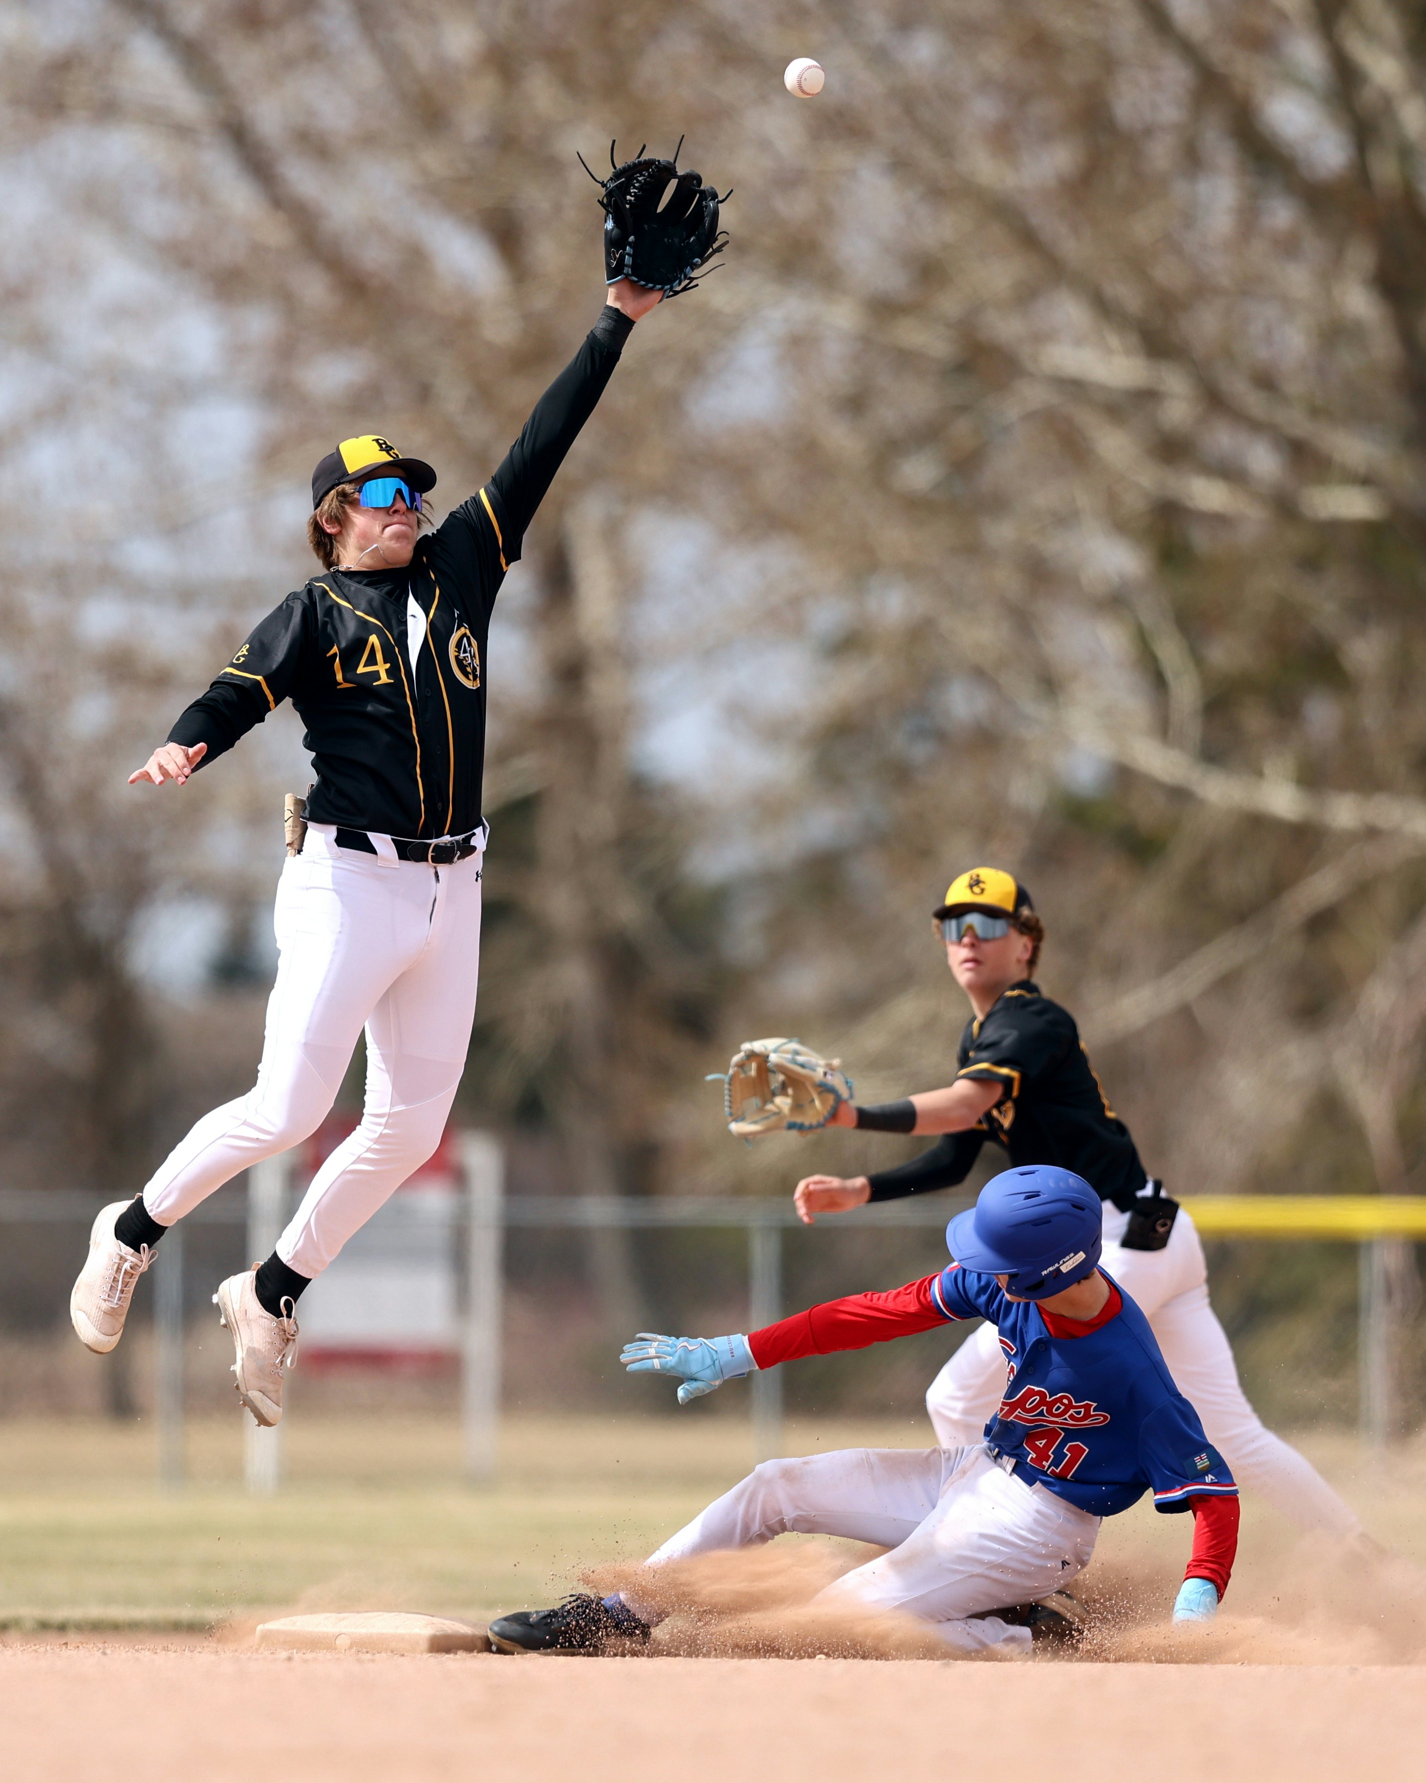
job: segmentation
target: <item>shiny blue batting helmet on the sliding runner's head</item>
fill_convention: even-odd
[[[1005,1275],[1018,1300],[1045,1300],[1093,1275],[1103,1250],[1100,1196],[1055,1164],[1002,1170],[950,1221],[947,1245],[963,1269]]]

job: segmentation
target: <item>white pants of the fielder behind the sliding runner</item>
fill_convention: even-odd
[[[1162,1250],[1125,1250],[1128,1214],[1103,1204],[1103,1269],[1143,1307],[1169,1373],[1239,1485],[1305,1530],[1348,1537],[1362,1530],[1356,1512],[1317,1469],[1273,1435],[1248,1403],[1228,1334],[1209,1303],[1209,1266],[1192,1220],[1180,1209]],[[980,1325],[932,1380],[925,1409],[936,1441],[973,1442],[1005,1387],[1005,1355],[991,1323]]]

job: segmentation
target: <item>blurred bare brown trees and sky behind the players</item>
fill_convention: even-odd
[[[734,1152],[702,1073],[943,1082],[925,918],[991,859],[1171,1189],[1426,1186],[1415,7],[4,0],[0,50],[11,1184],[137,1187],[250,1080],[296,722],[125,772],[308,574],[332,440],[488,474],[602,296],[576,150],[686,132],[725,266],[497,608],[462,1116],[545,1191],[889,1161]],[[1328,1312],[1274,1366],[1335,1382]]]

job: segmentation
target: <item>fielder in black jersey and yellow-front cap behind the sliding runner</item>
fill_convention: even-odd
[[[1180,1391],[1228,1458],[1241,1485],[1294,1523],[1335,1537],[1362,1524],[1323,1476],[1266,1430],[1237,1378],[1228,1337],[1209,1303],[1203,1246],[1189,1214],[1148,1179],[1128,1127],[1109,1107],[1068,1009],[1041,995],[1032,974],[1045,940],[1030,893],[1011,874],[977,867],[934,913],[947,965],[970,998],[955,1080],[900,1102],[845,1102],[829,1125],[941,1134],[909,1164],[872,1177],[804,1177],[797,1211],[818,1214],[963,1182],[980,1146],[1002,1145],[1012,1164],[1062,1164],[1103,1198],[1105,1268],[1143,1307]],[[936,1437],[970,1442],[1004,1384],[1004,1330],[993,1318],[952,1355],[927,1393]]]

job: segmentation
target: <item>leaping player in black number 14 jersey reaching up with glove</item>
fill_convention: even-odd
[[[308,540],[323,572],[255,628],[128,777],[182,786],[283,699],[301,713],[317,774],[278,883],[280,963],[257,1086],[200,1120],[135,1200],[102,1209],[70,1300],[82,1343],[112,1350],[164,1232],[314,1132],[365,1029],[360,1125],[312,1179],[273,1255],[214,1296],[258,1425],[282,1417],[303,1289],[431,1155],[465,1063],[496,594],[629,330],[718,251],[718,200],[697,173],[651,159],[599,184],[608,303],[490,481],[422,535],[435,471],[376,433],[342,440],[312,472]]]

